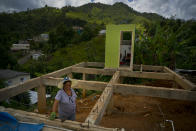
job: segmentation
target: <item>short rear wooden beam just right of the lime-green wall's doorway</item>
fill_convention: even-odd
[[[140,70],[141,65],[133,65],[133,69],[134,70]],[[142,65],[142,70],[143,71],[159,71],[162,72],[163,71],[163,66],[152,66],[152,65]]]

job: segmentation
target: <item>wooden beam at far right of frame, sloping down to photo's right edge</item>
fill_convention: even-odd
[[[175,73],[174,71],[172,71],[171,69],[164,67],[163,69],[165,72],[167,73],[171,73],[174,75],[174,81],[180,85],[182,88],[187,89],[187,90],[195,90],[196,89],[196,85],[193,84],[192,82],[188,81],[186,78],[178,75],[177,73]]]

